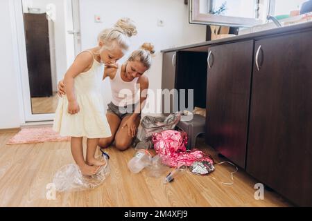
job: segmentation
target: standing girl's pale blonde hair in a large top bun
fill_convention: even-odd
[[[132,35],[137,35],[137,28],[132,20],[129,18],[119,19],[114,28],[106,28],[98,34],[98,41],[104,43],[105,48],[112,50],[114,47],[113,41],[121,48],[123,53],[128,50],[130,46],[129,38]]]

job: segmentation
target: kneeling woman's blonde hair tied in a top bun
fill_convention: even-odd
[[[144,43],[142,46],[138,49],[132,52],[130,57],[128,58],[128,61],[139,61],[146,68],[150,68],[152,65],[152,55],[155,53],[153,44],[150,43]]]

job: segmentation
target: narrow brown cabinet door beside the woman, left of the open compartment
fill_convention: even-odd
[[[162,57],[162,89],[168,89],[172,90],[175,88],[175,69],[176,69],[176,62],[177,62],[177,52],[164,52]],[[172,95],[170,98],[170,104],[169,99],[166,101],[164,99],[164,96],[162,96],[162,113],[165,113],[165,101],[166,106],[169,106],[170,113],[174,113],[175,110],[177,111],[177,107],[173,108],[174,99],[177,98],[177,96]]]

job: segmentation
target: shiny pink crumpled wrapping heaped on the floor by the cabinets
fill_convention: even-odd
[[[208,161],[214,164],[214,160],[202,151],[186,151],[187,133],[184,131],[167,130],[153,134],[154,149],[162,162],[168,166],[191,166],[193,162]]]

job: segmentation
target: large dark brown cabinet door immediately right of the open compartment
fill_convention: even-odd
[[[208,52],[206,142],[245,168],[253,41]]]

